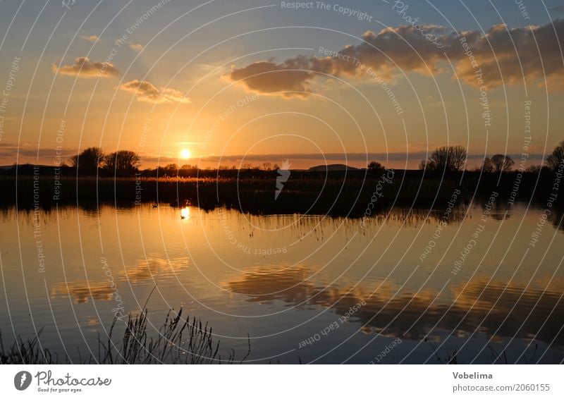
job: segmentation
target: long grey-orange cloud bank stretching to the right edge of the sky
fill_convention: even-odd
[[[378,33],[367,31],[362,39],[360,44],[331,54],[296,56],[281,63],[269,59],[233,67],[228,78],[252,92],[307,97],[312,92],[312,81],[323,74],[389,81],[400,70],[424,75],[445,73],[450,69],[450,60],[458,78],[468,85],[517,85],[522,84],[523,78],[529,85],[544,85],[546,77],[548,87],[564,89],[558,47],[564,39],[563,19],[541,26],[494,25],[485,33],[450,32],[438,25],[402,25]],[[323,56],[326,54],[329,56]],[[474,66],[470,56],[475,60]],[[484,83],[476,77],[480,69]]]

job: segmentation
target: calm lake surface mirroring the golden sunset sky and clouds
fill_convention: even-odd
[[[321,331],[360,302],[365,305],[347,317],[346,329],[365,333],[355,335],[362,343],[376,333],[399,336],[408,345],[424,338],[443,342],[449,334],[476,345],[484,337],[494,342],[515,337],[551,344],[556,357],[564,346],[564,269],[558,267],[564,235],[556,209],[549,216],[552,226],[546,223],[541,240],[523,258],[543,211],[496,204],[477,245],[453,275],[460,251],[481,223],[481,203],[453,209],[440,236],[444,210],[398,208],[360,226],[360,219],[258,216],[184,205],[42,211],[44,274],[37,271],[34,212],[1,211],[10,317],[27,321],[30,303],[39,326],[53,317],[66,331],[75,331],[76,320],[80,326],[105,325],[114,317],[116,304],[110,301],[118,301],[116,292],[124,309],[135,311],[157,286],[152,312],[185,305],[224,336],[276,336],[253,340],[257,357],[295,348],[296,337]],[[432,251],[420,257],[431,239]],[[103,269],[102,256],[111,273]],[[85,305],[92,301],[100,301],[99,315]],[[2,306],[0,324],[8,325]],[[319,345],[332,348],[343,333]],[[72,334],[66,339],[81,339]],[[42,339],[60,341],[56,331],[46,331]],[[343,350],[348,349],[353,350]]]

